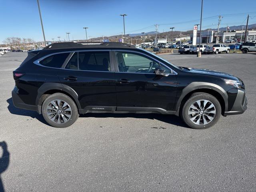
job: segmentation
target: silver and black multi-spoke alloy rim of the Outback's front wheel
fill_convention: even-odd
[[[188,109],[190,121],[197,125],[210,123],[216,115],[216,108],[209,100],[197,100]]]

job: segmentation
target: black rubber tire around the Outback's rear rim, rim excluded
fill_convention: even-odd
[[[63,122],[63,123],[54,122],[47,115],[48,104],[50,104],[50,102],[53,101],[53,100],[62,100],[70,106],[71,116],[67,120],[67,122]],[[68,126],[72,125],[74,122],[76,122],[77,118],[79,117],[78,110],[77,110],[75,102],[69,96],[67,96],[65,94],[62,94],[62,93],[52,94],[48,98],[46,98],[46,100],[44,100],[44,102],[42,104],[42,115],[43,115],[44,119],[46,120],[46,122],[48,124],[50,124],[50,126],[57,127],[57,128],[68,127]]]

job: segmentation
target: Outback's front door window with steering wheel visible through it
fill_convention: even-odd
[[[116,52],[119,72],[130,73],[154,73],[156,67],[161,66],[166,73],[171,70],[158,62],[137,53]]]

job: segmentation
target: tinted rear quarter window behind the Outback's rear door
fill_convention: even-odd
[[[49,57],[44,58],[42,61],[39,63],[43,66],[47,67],[55,67],[55,68],[61,68],[62,64],[66,60],[70,53],[59,53],[59,54],[54,54]]]

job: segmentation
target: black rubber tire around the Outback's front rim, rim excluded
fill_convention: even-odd
[[[197,100],[208,100],[208,101],[212,102],[212,104],[214,104],[216,114],[214,116],[214,119],[212,121],[210,121],[208,124],[198,125],[198,124],[193,123],[189,118],[188,110],[189,110],[190,106]],[[218,122],[218,120],[220,119],[221,106],[220,106],[220,103],[218,102],[218,100],[214,96],[212,96],[208,93],[196,92],[196,93],[193,93],[190,96],[190,98],[185,102],[185,104],[183,105],[183,107],[181,109],[180,116],[181,116],[182,120],[189,127],[193,128],[193,129],[206,129],[206,128],[209,128],[209,127],[213,126],[214,124],[216,124],[216,122]]]

